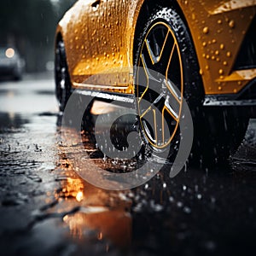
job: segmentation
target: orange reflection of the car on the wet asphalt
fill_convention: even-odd
[[[76,136],[75,132],[73,136]],[[131,201],[125,195],[128,192],[99,189],[86,183],[73,171],[73,163],[70,161],[72,154],[80,154],[82,158],[84,153],[77,151],[75,145],[59,149],[60,164],[55,172],[61,188],[55,192],[58,204],[51,207],[49,212],[67,212],[62,220],[75,240],[85,243],[103,242],[107,251],[111,244],[118,247],[129,246]]]

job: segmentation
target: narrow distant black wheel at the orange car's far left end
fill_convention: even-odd
[[[63,41],[58,41],[55,47],[55,95],[60,111],[63,112],[71,95],[71,82]]]

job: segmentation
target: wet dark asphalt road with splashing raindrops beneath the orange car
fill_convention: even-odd
[[[255,120],[230,168],[163,171],[120,192],[74,172],[51,74],[1,81],[0,103],[0,255],[255,254]]]

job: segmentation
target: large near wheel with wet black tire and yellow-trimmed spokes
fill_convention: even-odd
[[[135,96],[139,130],[155,154],[175,156],[183,100],[194,121],[203,91],[195,49],[175,9],[159,7],[148,16],[135,43]]]

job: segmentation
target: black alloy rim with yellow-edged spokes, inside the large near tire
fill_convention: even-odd
[[[143,136],[154,148],[166,148],[177,132],[181,115],[183,65],[177,38],[164,21],[148,29],[138,67],[137,110]]]

